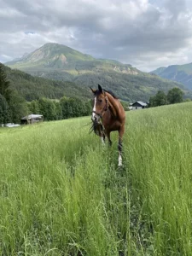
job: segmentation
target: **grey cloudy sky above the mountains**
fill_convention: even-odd
[[[192,62],[191,0],[0,0],[0,62],[48,42],[143,71]]]

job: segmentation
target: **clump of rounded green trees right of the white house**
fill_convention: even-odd
[[[174,87],[172,90],[169,90],[167,95],[164,91],[158,90],[155,96],[151,96],[149,99],[150,107],[157,107],[167,104],[174,104],[183,102],[183,90]]]

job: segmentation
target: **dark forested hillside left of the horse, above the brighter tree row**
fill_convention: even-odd
[[[6,66],[3,67],[11,83],[11,88],[17,90],[27,101],[32,101],[43,96],[50,99],[58,99],[62,96],[78,96],[82,99],[90,97],[89,90],[79,88],[79,86],[73,82],[33,77],[20,70],[11,69]]]

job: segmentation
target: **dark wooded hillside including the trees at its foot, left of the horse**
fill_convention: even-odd
[[[33,78],[0,63],[0,126],[8,122],[20,124],[20,119],[29,113],[41,113],[48,121],[90,115],[90,92],[76,87],[70,82]]]

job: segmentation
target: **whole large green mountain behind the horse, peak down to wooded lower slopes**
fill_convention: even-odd
[[[157,90],[167,92],[176,86],[185,90],[183,84],[143,73],[130,64],[96,59],[61,44],[44,44],[31,54],[6,65],[33,76],[72,82],[85,91],[90,90],[90,86],[95,88],[97,84],[102,84],[103,88],[113,90],[120,99],[130,102],[148,101]],[[187,90],[185,92],[188,93]]]

